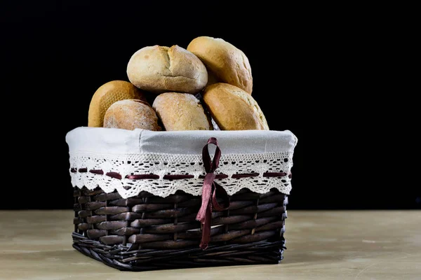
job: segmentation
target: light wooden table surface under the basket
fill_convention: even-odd
[[[288,211],[279,265],[120,272],[72,248],[72,211],[0,211],[0,279],[421,279],[421,211]]]

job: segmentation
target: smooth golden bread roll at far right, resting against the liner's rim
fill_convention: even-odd
[[[269,130],[258,102],[235,85],[208,85],[203,103],[220,130]]]

